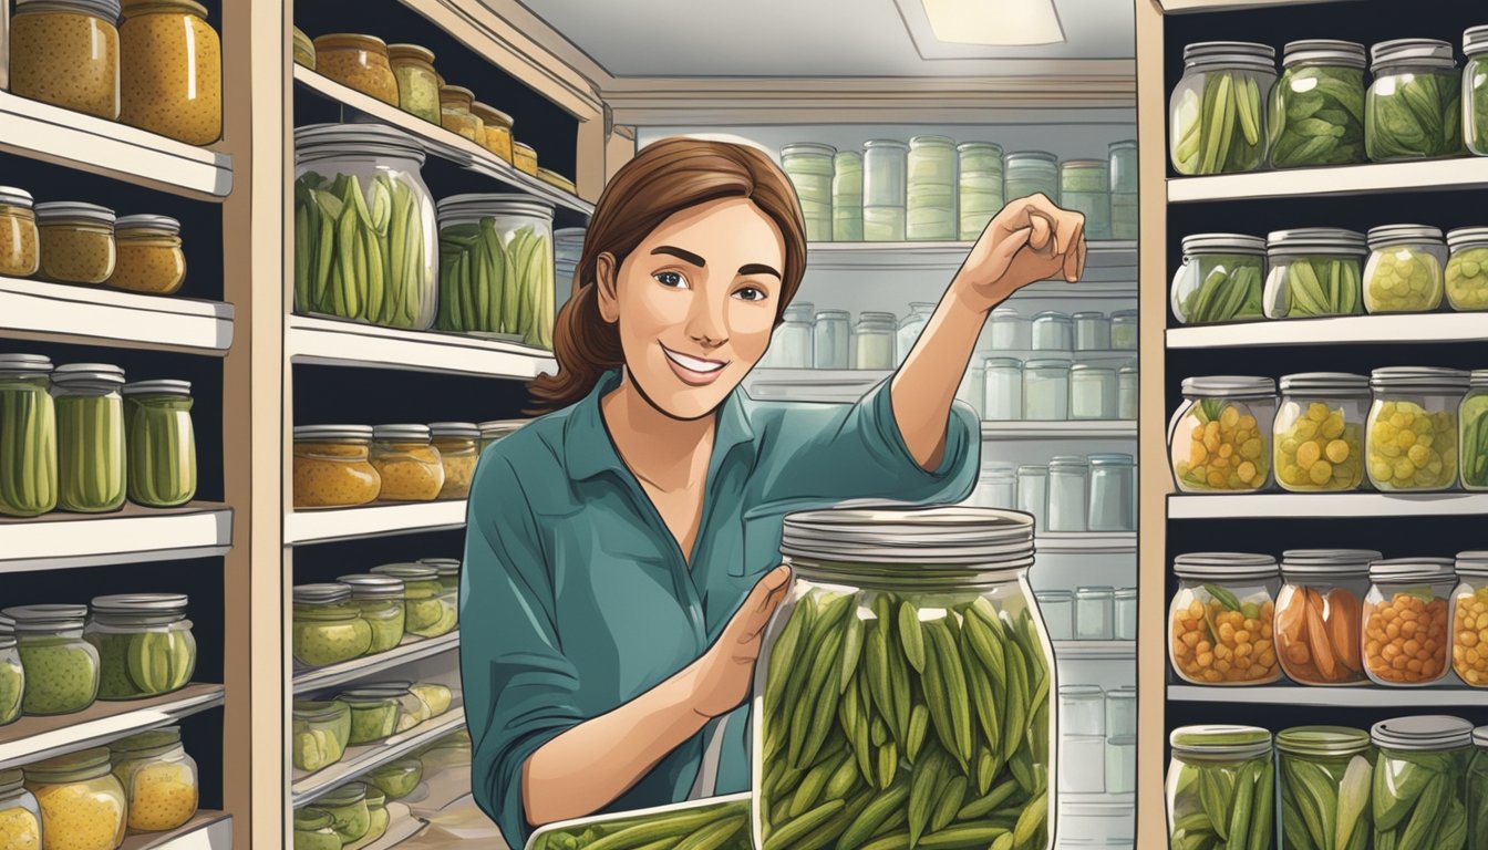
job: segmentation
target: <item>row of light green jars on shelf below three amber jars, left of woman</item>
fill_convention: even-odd
[[[379,655],[403,643],[449,634],[460,625],[460,561],[423,558],[382,564],[335,582],[299,585],[293,600],[293,654],[305,667]]]

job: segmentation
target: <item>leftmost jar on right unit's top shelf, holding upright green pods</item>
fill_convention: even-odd
[[[1248,42],[1183,48],[1183,79],[1168,101],[1168,152],[1178,174],[1234,174],[1266,162],[1266,98],[1277,51]]]

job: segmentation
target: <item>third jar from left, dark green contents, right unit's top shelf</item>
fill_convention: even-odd
[[[1370,48],[1364,150],[1373,162],[1467,153],[1463,79],[1455,51],[1436,39],[1396,39]]]

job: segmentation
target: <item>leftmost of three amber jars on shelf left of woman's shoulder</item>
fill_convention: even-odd
[[[382,478],[372,467],[372,429],[295,429],[295,508],[354,508],[378,497]]]

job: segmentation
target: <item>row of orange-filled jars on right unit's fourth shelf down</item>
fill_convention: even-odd
[[[1488,552],[1178,555],[1168,659],[1195,685],[1488,688]]]

